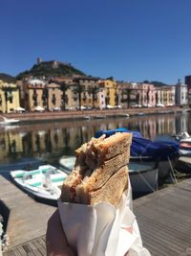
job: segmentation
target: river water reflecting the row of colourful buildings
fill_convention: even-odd
[[[0,128],[0,163],[29,156],[49,162],[57,161],[64,154],[74,154],[74,150],[99,129],[125,127],[138,130],[150,139],[183,130],[191,133],[189,117],[189,113],[163,114]]]

